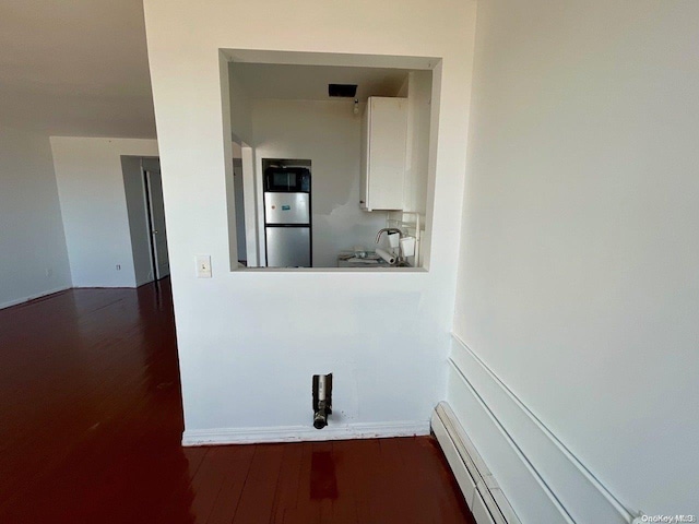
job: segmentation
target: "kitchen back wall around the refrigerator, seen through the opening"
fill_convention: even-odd
[[[252,130],[259,187],[262,158],[311,160],[313,266],[336,267],[337,253],[372,248],[386,213],[359,209],[362,114],[352,102],[256,100]],[[264,230],[264,214],[260,213]]]

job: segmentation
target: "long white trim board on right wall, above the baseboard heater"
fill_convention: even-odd
[[[541,521],[536,513],[544,505],[547,522],[554,514],[561,523],[632,521],[631,512],[457,336],[450,365],[448,397],[457,422],[491,457],[490,469],[512,473],[499,481],[523,522]],[[533,505],[536,498],[540,508]]]

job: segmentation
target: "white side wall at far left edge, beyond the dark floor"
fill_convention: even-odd
[[[0,308],[70,284],[48,136],[0,127]]]

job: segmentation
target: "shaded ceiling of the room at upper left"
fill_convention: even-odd
[[[155,138],[142,0],[1,0],[0,123]]]

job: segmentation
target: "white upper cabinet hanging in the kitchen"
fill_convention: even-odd
[[[371,96],[362,121],[362,188],[365,211],[402,210],[407,98]]]

